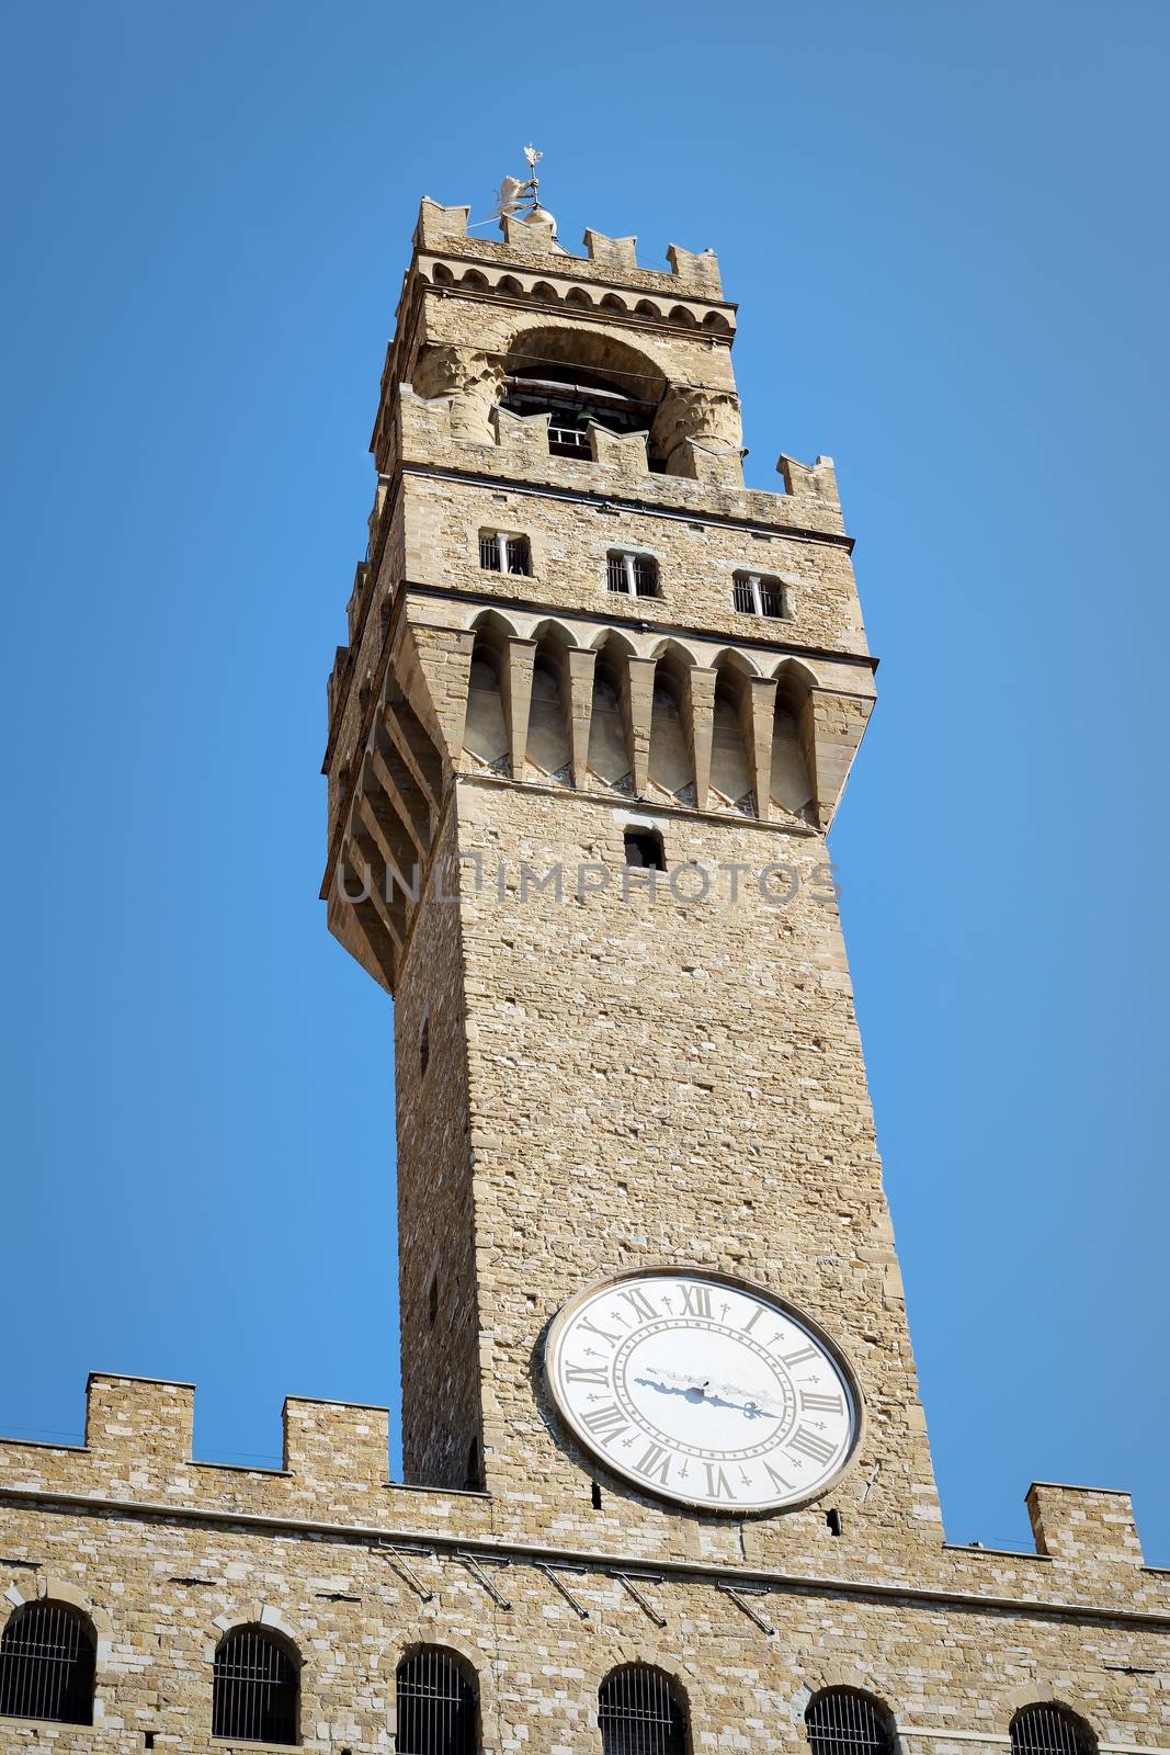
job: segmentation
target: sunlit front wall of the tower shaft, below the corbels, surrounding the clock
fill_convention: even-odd
[[[642,878],[621,895],[623,821],[644,809],[472,779],[458,809],[460,848],[484,862],[463,955],[493,1492],[539,1504],[558,1539],[588,1525],[593,1471],[544,1400],[540,1336],[591,1281],[691,1260],[770,1286],[845,1346],[868,1406],[845,1523],[886,1565],[912,1564],[938,1504],[824,842],[667,816],[667,863],[696,862],[710,892],[660,881],[651,902]],[[754,874],[784,860],[800,890],[765,902]],[[521,893],[521,862],[561,872],[563,900]],[[609,888],[577,900],[591,865]],[[612,1492],[647,1551],[719,1541]],[[746,1550],[784,1564],[802,1518],[823,1527],[824,1508],[753,1523]]]

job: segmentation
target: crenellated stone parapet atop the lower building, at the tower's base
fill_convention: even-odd
[[[249,1520],[258,1530],[351,1529],[354,1539],[393,1543],[409,1536],[475,1550],[500,1548],[516,1557],[542,1544],[593,1553],[598,1564],[616,1557],[654,1558],[674,1567],[693,1558],[686,1539],[663,1527],[653,1511],[630,1518],[630,1506],[612,1501],[605,1513],[565,1506],[544,1520],[526,1495],[482,1490],[412,1486],[389,1479],[386,1408],[288,1397],[282,1409],[282,1467],[195,1460],[195,1390],[189,1383],[91,1372],[86,1385],[84,1444],[49,1444],[0,1437],[0,1504],[58,1504],[77,1516],[103,1506],[147,1520]],[[845,1504],[845,1523],[854,1513]],[[1019,1597],[1021,1608],[1077,1601],[1128,1602],[1142,1613],[1170,1615],[1170,1578],[1144,1565],[1130,1495],[1091,1486],[1033,1483],[1026,1497],[1037,1551],[947,1546],[919,1551],[912,1583]],[[382,1530],[384,1536],[377,1537]],[[849,1530],[847,1530],[849,1532]],[[779,1543],[777,1543],[777,1537]],[[709,1530],[705,1557],[712,1565],[807,1569],[895,1590],[902,1567],[896,1550],[882,1553],[889,1583],[840,1543],[826,1539],[816,1508],[788,1516],[781,1529],[758,1525],[740,1550],[738,1532]],[[931,1560],[933,1553],[933,1560]],[[202,1550],[193,1551],[198,1569]],[[607,1555],[610,1557],[607,1560]],[[1042,1571],[1037,1571],[1042,1569]],[[179,1580],[182,1583],[184,1580]],[[905,1588],[909,1578],[903,1578]]]

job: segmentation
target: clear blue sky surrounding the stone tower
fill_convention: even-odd
[[[1170,14],[9,9],[0,1430],[395,1392],[391,1016],[325,676],[417,198],[546,153],[719,251],[749,481],[837,458],[881,702],[833,832],[947,1532],[1163,1492]]]

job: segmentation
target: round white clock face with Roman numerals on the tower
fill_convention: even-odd
[[[588,1450],[703,1509],[814,1499],[858,1439],[860,1397],[826,1336],[770,1293],[710,1274],[589,1286],[553,1323],[544,1362]]]

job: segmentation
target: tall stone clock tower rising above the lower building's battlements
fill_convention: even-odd
[[[332,684],[330,925],[395,995],[407,1474],[523,1492],[547,1527],[600,1490],[682,1551],[663,1499],[707,1462],[728,1513],[803,1502],[828,1462],[831,1504],[753,1546],[826,1509],[867,1548],[937,1543],[824,846],[874,700],[833,469],[744,488],[714,254],[656,274],[633,239],[589,232],[579,260],[547,219],[505,223],[484,244],[423,204]],[[682,1306],[610,1297],[567,1360],[598,1372],[570,1423],[549,1323],[647,1269],[816,1323],[838,1400],[798,1418],[821,1355],[753,1365],[731,1297],[710,1381],[775,1406],[661,1381],[642,1420],[654,1358],[602,1385],[609,1336]],[[775,1479],[747,1467],[763,1429],[788,1432]]]

